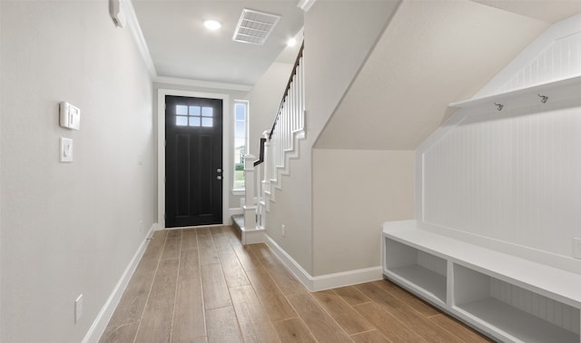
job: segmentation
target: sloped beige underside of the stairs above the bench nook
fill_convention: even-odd
[[[478,92],[552,21],[581,12],[581,2],[507,8],[519,13],[478,2],[404,0],[314,147],[415,150],[453,113],[448,103]]]

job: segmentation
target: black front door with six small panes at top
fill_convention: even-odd
[[[222,100],[165,96],[165,227],[222,224]]]

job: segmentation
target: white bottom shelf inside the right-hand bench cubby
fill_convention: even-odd
[[[473,301],[458,306],[457,309],[474,320],[486,322],[507,339],[516,338],[527,343],[579,343],[578,334],[494,298]]]

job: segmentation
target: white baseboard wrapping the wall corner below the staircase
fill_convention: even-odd
[[[268,235],[265,236],[266,244],[271,248],[279,260],[281,260],[282,264],[310,291],[334,289],[383,279],[383,269],[381,266],[360,270],[341,271],[339,273],[313,277],[307,272],[307,270],[304,270],[296,260],[292,259],[291,255],[283,250],[276,241],[272,240]]]

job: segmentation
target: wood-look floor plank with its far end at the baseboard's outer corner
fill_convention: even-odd
[[[288,297],[292,307],[303,319],[315,339],[327,342],[352,342],[337,323],[312,299],[310,294],[295,294]]]

